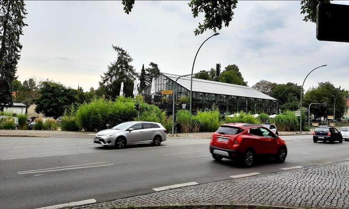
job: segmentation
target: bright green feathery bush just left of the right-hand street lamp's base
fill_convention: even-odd
[[[297,131],[299,122],[295,112],[286,110],[275,117],[275,125],[279,131]]]

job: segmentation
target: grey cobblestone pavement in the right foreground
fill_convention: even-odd
[[[251,204],[296,208],[349,208],[349,162],[128,197],[73,209],[174,204]]]

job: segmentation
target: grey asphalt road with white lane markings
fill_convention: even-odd
[[[267,160],[241,168],[229,160],[213,161],[209,139],[170,139],[160,147],[106,149],[94,144],[93,136],[0,137],[0,208],[35,209],[87,199],[103,202],[174,184],[207,183],[349,158],[346,141],[315,144],[312,135],[282,138],[288,147],[285,163]]]

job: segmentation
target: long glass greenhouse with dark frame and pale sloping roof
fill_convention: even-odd
[[[178,77],[179,75],[161,73],[155,78],[153,95],[151,94],[152,84],[141,91],[144,102],[155,104],[172,113],[172,90]],[[179,78],[174,92],[176,109],[189,109],[190,76]],[[193,111],[208,110],[215,104],[222,114],[239,111],[269,115],[279,113],[278,100],[248,86],[193,78],[192,92]]]

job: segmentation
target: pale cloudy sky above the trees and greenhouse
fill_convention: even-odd
[[[214,31],[195,36],[203,15],[193,18],[188,1],[136,1],[127,15],[121,1],[25,1],[28,12],[16,75],[24,81],[53,80],[84,91],[97,89],[100,75],[127,50],[137,72],[142,64],[163,73],[190,74],[195,53]],[[349,1],[333,1],[349,4]],[[229,27],[209,39],[194,73],[238,65],[248,86],[260,80],[293,82],[304,89],[330,81],[349,89],[349,43],[318,41],[316,24],[304,22],[300,1],[238,1]]]

